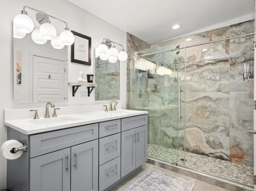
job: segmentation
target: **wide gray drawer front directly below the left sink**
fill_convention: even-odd
[[[30,158],[98,138],[98,123],[30,136]]]

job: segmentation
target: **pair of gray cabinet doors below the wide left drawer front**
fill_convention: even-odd
[[[98,190],[98,140],[30,159],[30,191],[70,191],[70,187]]]

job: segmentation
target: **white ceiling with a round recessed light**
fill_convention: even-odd
[[[152,44],[252,14],[255,0],[69,0]],[[174,24],[180,24],[173,30]]]

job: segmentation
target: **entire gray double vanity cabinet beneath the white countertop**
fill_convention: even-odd
[[[28,151],[7,161],[7,189],[108,191],[147,161],[147,124],[143,114],[31,135],[8,128]]]

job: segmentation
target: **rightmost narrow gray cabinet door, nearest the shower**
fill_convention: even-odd
[[[136,168],[148,158],[148,126],[136,128]]]

